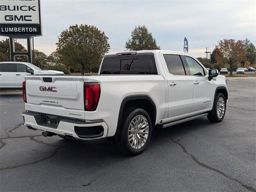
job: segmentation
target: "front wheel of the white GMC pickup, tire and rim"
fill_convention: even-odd
[[[207,116],[211,122],[221,122],[226,113],[226,98],[222,93],[217,93],[214,99],[212,111]]]

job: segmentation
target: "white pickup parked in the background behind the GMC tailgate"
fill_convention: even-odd
[[[64,74],[64,72],[42,70],[26,62],[0,62],[0,89],[22,89],[25,75],[31,74]]]

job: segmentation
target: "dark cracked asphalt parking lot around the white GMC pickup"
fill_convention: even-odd
[[[22,125],[22,93],[0,93],[0,191],[256,191],[256,78],[228,79],[220,123],[156,129],[143,154],[106,139],[43,137]]]

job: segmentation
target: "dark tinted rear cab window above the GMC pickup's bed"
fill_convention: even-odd
[[[154,55],[104,57],[100,74],[157,75]]]

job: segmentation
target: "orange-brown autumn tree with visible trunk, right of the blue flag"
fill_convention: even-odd
[[[233,68],[244,60],[246,51],[241,40],[224,39],[218,42],[215,47],[217,49],[216,60],[230,66],[230,76],[232,76]]]

